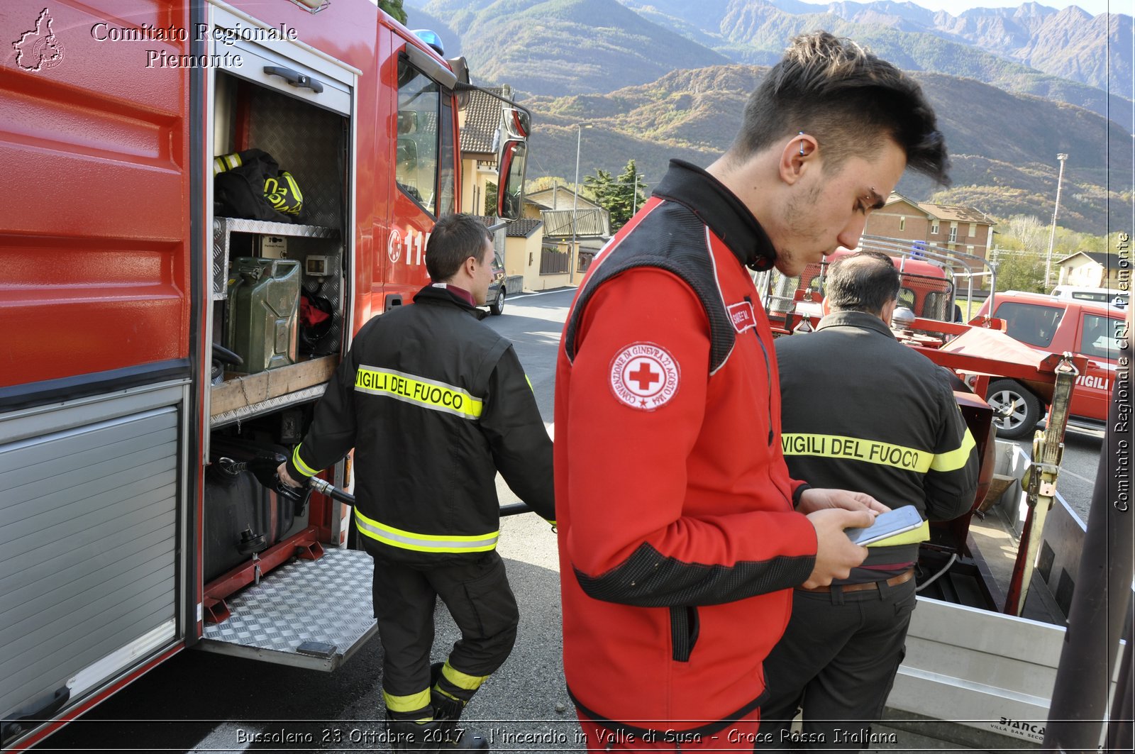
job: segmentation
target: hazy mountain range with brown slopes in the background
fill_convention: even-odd
[[[670,157],[707,165],[788,41],[826,28],[910,72],[935,106],[953,187],[908,174],[903,194],[1046,219],[1065,152],[1060,224],[1102,234],[1130,223],[1129,16],[1037,3],[955,16],[890,0],[429,0],[406,11],[468,58],[474,81],[532,95],[532,177],[572,178],[582,122],[581,176],[631,158],[648,182]]]

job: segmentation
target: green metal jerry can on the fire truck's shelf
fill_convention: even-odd
[[[300,262],[237,257],[228,276],[228,347],[249,374],[295,363]]]

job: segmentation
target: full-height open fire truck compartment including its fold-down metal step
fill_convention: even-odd
[[[216,18],[222,25],[226,16]],[[264,219],[264,208],[229,217],[230,203],[213,203],[209,332],[221,349],[209,388],[197,646],[331,670],[375,632],[370,559],[325,550],[337,531],[319,526],[313,505],[222,467],[286,458],[345,349],[354,74],[283,41],[236,48],[244,65],[213,75],[215,169],[260,150],[287,171],[292,209],[301,195],[302,206]],[[322,504],[342,521],[339,503]]]

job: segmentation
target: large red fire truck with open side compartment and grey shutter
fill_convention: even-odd
[[[372,0],[9,0],[0,27],[0,745],[192,645],[335,668],[373,632],[346,509],[249,468],[427,282],[464,61]],[[283,170],[215,184],[253,149]]]

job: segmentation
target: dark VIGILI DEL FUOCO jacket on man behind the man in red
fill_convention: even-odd
[[[934,521],[969,510],[980,459],[950,375],[882,319],[827,315],[814,333],[779,338],[776,361],[792,474],[890,508],[914,505]],[[872,547],[863,566],[917,559],[917,543]]]

